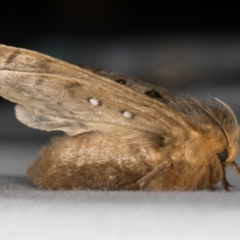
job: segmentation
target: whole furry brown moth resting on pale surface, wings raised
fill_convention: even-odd
[[[43,189],[212,190],[239,167],[239,126],[202,102],[138,80],[0,45],[0,95],[29,127],[66,133],[27,170]]]

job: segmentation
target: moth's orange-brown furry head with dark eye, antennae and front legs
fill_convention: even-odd
[[[240,168],[235,162],[239,145],[240,128],[232,109],[224,102],[216,99],[217,106],[201,105],[192,99],[208,117],[207,123],[202,126],[203,136],[207,148],[214,154],[212,158],[217,166],[222,169],[222,183],[228,189],[228,182],[225,178],[225,168],[231,165],[240,176]],[[220,163],[220,164],[219,164]],[[217,165],[217,166],[216,166]]]

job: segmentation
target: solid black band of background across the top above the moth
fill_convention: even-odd
[[[237,6],[211,1],[8,1],[1,2],[0,22],[0,41],[16,46],[59,34],[239,33]]]

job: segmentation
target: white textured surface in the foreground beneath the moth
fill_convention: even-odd
[[[239,239],[239,193],[42,192],[1,196],[1,239]]]

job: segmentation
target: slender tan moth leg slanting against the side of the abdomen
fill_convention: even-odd
[[[144,186],[146,186],[149,181],[156,176],[159,172],[161,172],[164,168],[169,167],[171,165],[170,160],[165,160],[161,162],[159,165],[157,165],[150,173],[139,179],[136,183],[132,184],[130,188],[136,188],[143,189]]]

